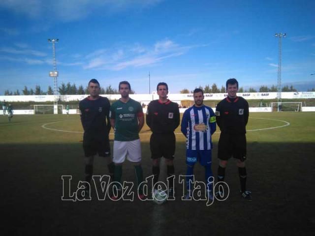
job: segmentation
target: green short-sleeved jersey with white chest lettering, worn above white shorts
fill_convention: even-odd
[[[114,140],[126,142],[139,139],[138,118],[143,117],[139,102],[131,98],[126,103],[118,100],[111,105],[109,117],[115,119]]]

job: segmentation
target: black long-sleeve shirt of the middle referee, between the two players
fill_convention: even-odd
[[[146,122],[153,133],[173,133],[180,122],[178,104],[153,100],[148,105]]]

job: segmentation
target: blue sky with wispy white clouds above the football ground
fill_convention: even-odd
[[[102,87],[130,82],[136,93],[166,82],[171,93],[238,79],[315,88],[314,0],[4,0],[0,1],[0,94],[24,86]]]

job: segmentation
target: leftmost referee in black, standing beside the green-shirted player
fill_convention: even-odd
[[[94,156],[105,157],[109,175],[113,178],[115,165],[110,158],[109,146],[109,110],[110,103],[106,97],[99,96],[100,86],[96,79],[89,82],[90,96],[79,102],[80,117],[84,129],[83,150],[85,160],[85,181],[90,183],[93,176]],[[89,194],[90,185],[85,191]]]

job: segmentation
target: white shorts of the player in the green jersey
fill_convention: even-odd
[[[113,162],[123,163],[127,157],[128,161],[141,161],[141,144],[140,139],[133,141],[114,141]]]

